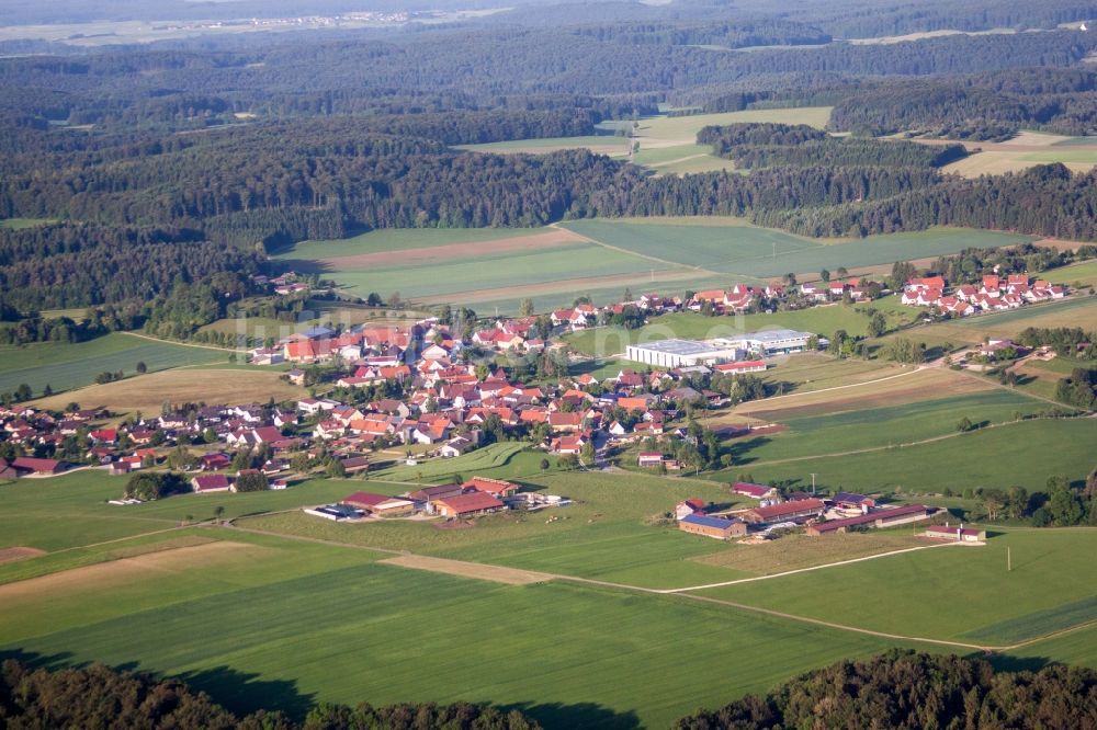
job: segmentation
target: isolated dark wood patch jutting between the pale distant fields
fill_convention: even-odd
[[[705,127],[698,144],[743,169],[796,167],[940,168],[968,156],[963,145],[927,146],[856,137],[830,137],[806,125],[733,124]]]

